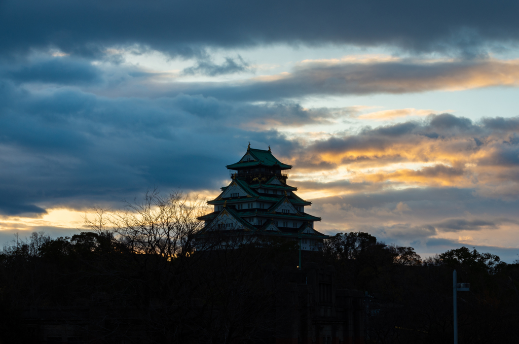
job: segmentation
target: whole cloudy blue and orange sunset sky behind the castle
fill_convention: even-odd
[[[519,254],[519,3],[0,1],[0,243],[252,148],[326,233]]]

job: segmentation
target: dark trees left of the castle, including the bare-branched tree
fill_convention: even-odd
[[[120,213],[95,209],[89,232],[17,237],[0,253],[0,342],[42,342],[31,329],[46,321],[95,343],[274,338],[295,303],[283,283],[297,245],[197,243],[200,203],[152,193]]]

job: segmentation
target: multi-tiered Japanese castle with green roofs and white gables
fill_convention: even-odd
[[[268,150],[247,148],[235,164],[227,165],[231,181],[218,197],[207,203],[214,207],[200,216],[204,227],[199,239],[211,234],[227,237],[274,237],[297,241],[302,250],[319,250],[328,236],[313,229],[320,217],[306,213],[311,202],[298,197],[297,188],[286,182],[291,165],[280,162]]]

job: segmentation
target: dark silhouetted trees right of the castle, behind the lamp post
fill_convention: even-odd
[[[412,247],[385,245],[362,232],[325,241],[323,260],[344,288],[365,290],[368,342],[453,342],[453,270],[458,283],[459,343],[519,338],[519,261],[467,247],[421,259]]]

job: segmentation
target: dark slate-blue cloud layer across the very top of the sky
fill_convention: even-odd
[[[516,42],[516,3],[410,0],[316,3],[311,1],[211,2],[160,0],[3,1],[4,54],[59,48],[95,56],[106,47],[153,48],[203,56],[205,47],[258,44],[393,45],[415,51],[468,56]]]

